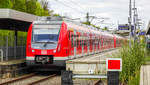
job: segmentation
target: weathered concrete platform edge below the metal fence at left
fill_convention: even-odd
[[[0,62],[0,78],[12,78],[27,72],[25,59]]]

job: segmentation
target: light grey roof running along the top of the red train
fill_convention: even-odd
[[[48,16],[48,17],[38,17],[37,21],[34,21],[34,24],[62,24],[66,23],[68,27],[72,27],[72,29],[76,31],[81,31],[81,32],[86,32],[86,33],[94,33],[96,35],[100,34],[102,36],[116,36],[119,38],[117,35],[113,35],[109,32],[102,32],[101,30],[97,30],[97,28],[94,28],[92,26],[88,26],[79,22],[75,22],[71,19],[68,18],[62,18],[60,16]]]

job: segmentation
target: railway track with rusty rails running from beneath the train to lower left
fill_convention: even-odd
[[[38,73],[32,73],[26,76],[0,83],[0,85],[35,85],[49,80],[50,78],[53,78],[55,76],[57,76],[57,74],[43,75]]]

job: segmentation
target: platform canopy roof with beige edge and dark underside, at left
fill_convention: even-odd
[[[29,25],[37,17],[12,9],[0,9],[0,29],[28,31]]]

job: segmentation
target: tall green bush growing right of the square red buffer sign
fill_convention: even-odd
[[[123,67],[120,79],[123,83],[129,83],[132,78],[137,76],[136,72],[140,70],[141,65],[145,62],[145,54],[145,44],[142,43],[135,42],[132,43],[131,47],[124,46],[121,49]]]

